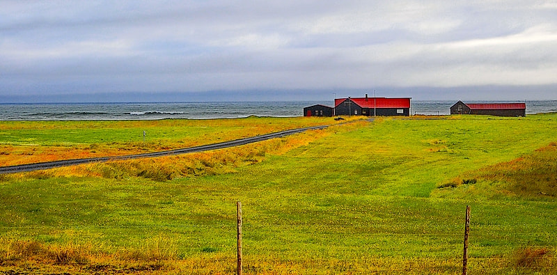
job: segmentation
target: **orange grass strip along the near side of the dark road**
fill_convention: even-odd
[[[342,130],[355,129],[365,120],[356,121],[350,125],[343,125]],[[308,143],[338,132],[336,126],[327,129],[317,129],[280,139],[270,139],[244,146],[197,152],[186,155],[173,155],[166,157],[131,159],[117,162],[97,164],[83,164],[49,169],[47,171],[33,171],[4,175],[4,177],[17,178],[54,178],[54,177],[99,177],[99,178],[128,178],[137,176],[152,180],[172,180],[199,175],[217,175],[234,173],[235,168],[261,162],[265,155],[282,155],[294,148],[306,146]]]

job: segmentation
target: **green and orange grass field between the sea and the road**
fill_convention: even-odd
[[[352,118],[354,120],[356,118]],[[63,122],[0,122],[0,131],[26,131],[21,139],[0,139],[0,166],[52,162],[62,159],[133,155],[200,146],[285,129],[314,125],[333,125],[339,122],[324,118],[244,118],[223,120],[141,120],[141,121],[63,121]],[[111,131],[118,129],[118,131]],[[59,131],[52,136],[56,141],[36,141],[37,133]],[[103,131],[103,132],[96,132]],[[141,133],[146,131],[143,141]],[[104,141],[80,141],[79,137],[64,136],[97,134]],[[122,133],[136,133],[135,141]],[[99,134],[101,133],[101,134]]]

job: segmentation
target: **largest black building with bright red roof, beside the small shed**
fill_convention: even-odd
[[[410,97],[348,97],[335,99],[336,116],[410,116]]]

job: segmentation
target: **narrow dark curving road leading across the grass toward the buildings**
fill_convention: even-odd
[[[281,136],[288,136],[290,134],[296,134],[299,132],[305,132],[311,129],[324,129],[329,127],[329,125],[322,125],[322,126],[313,126],[313,127],[304,127],[304,128],[297,128],[297,129],[290,129],[281,132],[271,133],[271,134],[263,134],[261,136],[253,136],[245,139],[236,139],[233,141],[225,141],[221,143],[213,143],[207,144],[203,146],[194,146],[189,148],[182,148],[182,149],[175,149],[175,150],[168,150],[168,151],[161,151],[161,152],[148,152],[145,154],[137,154],[137,155],[125,155],[125,156],[114,156],[114,157],[91,157],[87,159],[67,159],[67,160],[59,160],[56,162],[40,162],[36,164],[22,164],[22,165],[13,165],[13,166],[3,166],[0,167],[0,174],[8,174],[8,173],[20,173],[20,172],[29,172],[29,171],[36,171],[36,170],[45,170],[50,168],[57,168],[63,166],[72,166],[78,164],[90,164],[90,163],[98,163],[98,162],[111,162],[116,160],[125,160],[125,159],[140,159],[143,157],[162,157],[168,155],[181,155],[187,154],[190,152],[203,152],[208,150],[215,150],[215,149],[222,149],[228,148],[233,146],[241,146],[248,143],[254,143],[258,141],[265,141],[267,139],[275,139]]]

